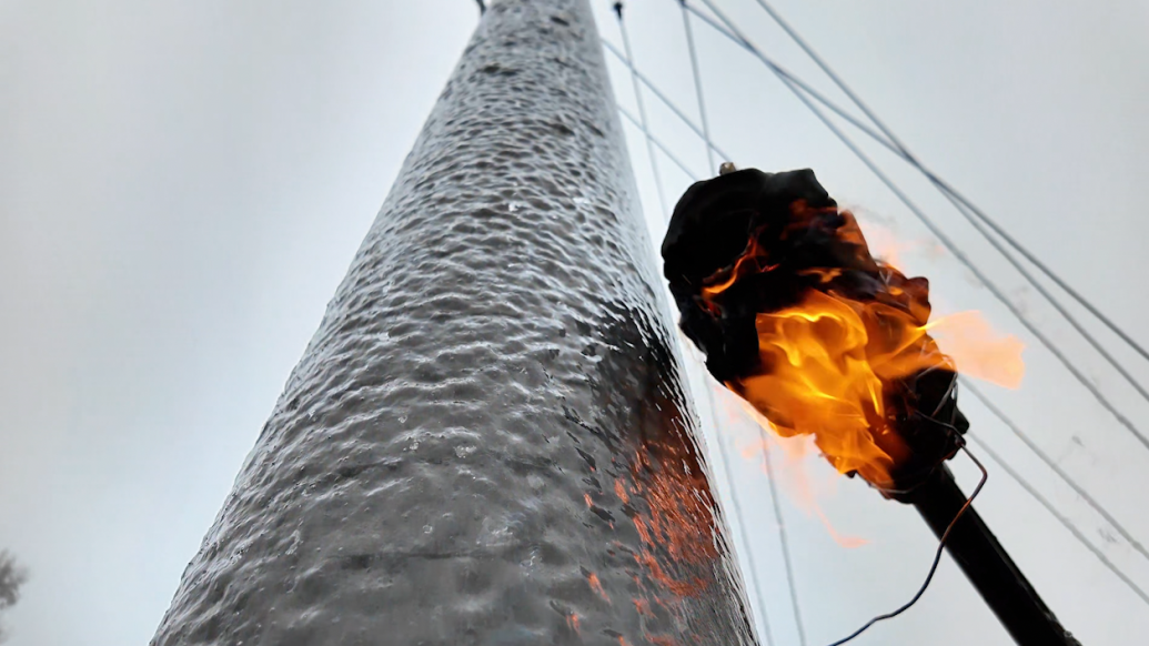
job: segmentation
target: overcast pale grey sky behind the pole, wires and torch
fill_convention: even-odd
[[[717,1],[838,97],[753,0]],[[592,3],[620,44],[609,2]],[[627,5],[639,66],[694,114],[677,2]],[[1139,213],[1149,3],[777,6],[916,153],[1149,344],[1149,218]],[[477,17],[471,0],[0,2],[0,548],[31,571],[8,617],[14,646],[149,639]],[[930,276],[939,309],[981,309],[1025,339],[1023,387],[987,392],[1149,540],[1149,451],[759,64],[704,25],[695,33],[719,146],[740,166],[813,168],[864,224],[908,245],[901,261]],[[611,62],[611,72],[633,111],[624,69]],[[647,106],[660,137],[704,174],[701,143],[653,98]],[[658,240],[646,148],[627,128]],[[874,154],[1149,429],[1149,405],[943,200]],[[672,203],[688,178],[660,163]],[[1149,382],[1149,366],[1101,338]],[[727,472],[745,512],[749,545],[733,532],[741,564],[748,574],[753,555],[773,633],[796,644],[754,429],[719,408],[708,446],[727,516]],[[963,408],[979,438],[1149,590],[1149,563],[973,398]],[[956,467],[971,486],[972,470]],[[978,507],[1063,623],[1088,645],[1143,641],[1149,606],[989,467]],[[781,478],[807,633],[824,644],[908,599],[933,539],[912,509],[835,482],[817,459],[786,471],[805,471],[835,529],[867,541],[840,547],[796,505],[795,478]],[[748,587],[759,594],[749,577]],[[1009,639],[947,562],[918,607],[857,643]]]

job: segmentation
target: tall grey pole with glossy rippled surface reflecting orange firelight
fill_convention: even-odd
[[[491,5],[153,644],[754,645],[586,0]]]

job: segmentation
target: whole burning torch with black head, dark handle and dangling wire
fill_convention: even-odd
[[[967,368],[934,340],[928,282],[876,260],[813,171],[723,164],[679,200],[662,256],[679,324],[716,379],[777,433],[811,436],[840,472],[913,505],[940,539],[930,576],[944,546],[1019,645],[1078,644],[971,507],[985,468],[970,455],[984,477],[967,498],[946,466],[965,451]],[[1005,363],[970,366],[1019,379]]]

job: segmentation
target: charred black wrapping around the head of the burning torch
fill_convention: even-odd
[[[751,249],[766,270],[733,271]],[[757,315],[795,306],[811,290],[880,302],[918,325],[930,318],[928,282],[877,262],[854,216],[810,169],[746,169],[695,183],[674,207],[662,257],[679,325],[723,383],[769,369],[761,364]],[[727,274],[733,282],[703,298]],[[905,444],[882,446],[902,455],[887,495],[904,498],[899,491],[920,484],[957,451],[969,424],[957,410],[954,378],[933,369],[885,393],[895,415],[890,426]]]

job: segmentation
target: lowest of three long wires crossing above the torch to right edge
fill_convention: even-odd
[[[726,28],[730,30],[727,36],[730,38],[733,38],[735,44],[741,45],[745,49],[747,49],[756,57],[758,57],[758,60],[763,60],[765,57],[757,49],[757,47],[750,44],[750,41],[738,30],[738,28],[734,26],[734,24],[730,21],[730,18],[727,18],[717,7],[714,6],[714,2],[711,0],[702,0],[702,2],[707,5],[707,7],[709,7],[710,10],[714,11],[714,14],[718,16],[718,18],[726,25]],[[693,7],[689,7],[689,9],[695,15],[699,16],[703,15],[700,14],[697,9],[694,9]],[[894,193],[894,195],[899,199],[899,201],[901,201],[903,205],[905,205],[908,209],[910,209],[910,212],[939,239],[939,241],[941,241],[942,245],[947,249],[949,249],[951,254],[954,254],[954,256],[958,260],[958,262],[961,262],[963,266],[965,266],[966,269],[973,272],[973,275],[979,280],[981,280],[981,283],[986,286],[986,289],[989,290],[989,292],[995,298],[997,298],[997,300],[1001,301],[1002,305],[1004,305],[1005,308],[1013,314],[1013,316],[1017,317],[1017,320],[1021,323],[1021,325],[1024,325],[1026,330],[1030,331],[1030,333],[1032,333],[1039,341],[1041,341],[1041,344],[1046,346],[1046,348],[1050,352],[1050,354],[1052,354],[1058,361],[1061,361],[1061,363],[1065,367],[1065,369],[1069,370],[1070,374],[1073,375],[1073,377],[1077,378],[1077,380],[1080,382],[1081,385],[1085,386],[1086,390],[1088,390],[1094,395],[1094,398],[1115,418],[1117,418],[1118,422],[1120,422],[1121,425],[1128,429],[1128,431],[1132,432],[1138,438],[1138,440],[1142,444],[1142,446],[1149,449],[1149,438],[1146,438],[1146,436],[1142,434],[1141,431],[1133,425],[1133,422],[1128,417],[1126,417],[1120,410],[1118,410],[1117,407],[1104,395],[1104,393],[1102,393],[1101,390],[1093,382],[1090,382],[1075,366],[1073,366],[1073,363],[1069,360],[1069,357],[1065,356],[1065,354],[1061,349],[1058,349],[1057,346],[1055,346],[1054,343],[1048,337],[1046,337],[1046,334],[1041,332],[1041,330],[1038,329],[1036,325],[1034,325],[1032,322],[1030,322],[1028,318],[1025,317],[1020,308],[1018,308],[1017,305],[1015,305],[1009,298],[1007,298],[1005,294],[1001,291],[1001,289],[998,289],[996,284],[989,280],[989,277],[984,271],[978,269],[978,267],[969,259],[969,256],[965,255],[965,253],[963,253],[957,247],[957,245],[949,238],[949,236],[947,236],[944,231],[942,231],[932,220],[930,220],[930,217],[926,216],[926,214],[909,199],[909,197],[893,182],[893,179],[890,179],[873,162],[873,160],[871,160],[864,152],[862,152],[862,149],[857,146],[857,144],[855,144],[854,140],[849,138],[849,136],[842,132],[842,130],[838,128],[838,125],[834,124],[834,122],[830,120],[830,117],[827,117],[820,109],[818,109],[818,107],[815,106],[811,102],[811,100],[805,94],[803,94],[802,91],[793,82],[789,80],[788,77],[779,75],[779,79],[781,79],[782,83],[786,85],[786,87],[789,89],[791,92],[793,92],[794,95],[797,97],[799,100],[802,101],[802,103],[804,103],[805,107],[811,113],[813,113],[813,115],[817,116],[818,120],[820,120],[823,124],[825,124],[826,128],[828,128],[830,131],[835,137],[838,137],[838,139],[842,141],[842,144],[846,145],[846,147],[849,148],[854,153],[854,155],[857,156],[858,160],[863,164],[865,164],[882,184],[886,185],[887,189],[890,190],[890,192]]]

